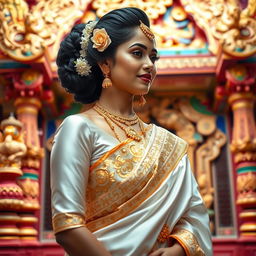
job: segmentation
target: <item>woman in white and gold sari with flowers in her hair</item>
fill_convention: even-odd
[[[187,144],[133,111],[157,59],[137,8],[76,25],[61,43],[62,86],[92,103],[63,121],[51,155],[53,227],[70,256],[212,255]]]

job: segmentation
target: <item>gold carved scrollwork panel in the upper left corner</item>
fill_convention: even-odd
[[[83,16],[89,0],[0,0],[0,50],[17,61],[33,61],[59,42]]]

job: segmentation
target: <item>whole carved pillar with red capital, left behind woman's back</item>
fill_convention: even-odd
[[[24,141],[27,154],[22,160],[23,175],[18,184],[23,190],[23,207],[20,212],[20,239],[24,242],[37,241],[38,223],[36,211],[39,210],[39,176],[43,149],[40,147],[38,132],[38,111],[42,107],[42,75],[34,70],[25,71],[14,78],[17,118],[24,126]]]

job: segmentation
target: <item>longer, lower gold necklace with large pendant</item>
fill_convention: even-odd
[[[109,112],[106,109],[103,109],[101,107],[99,107],[98,105],[95,105],[94,110],[101,115],[102,117],[104,117],[104,119],[106,120],[107,124],[109,125],[110,129],[113,131],[113,133],[115,134],[116,138],[121,142],[120,137],[118,136],[116,130],[115,130],[115,125],[117,125],[121,130],[124,131],[125,135],[127,138],[131,138],[134,139],[136,141],[141,141],[142,137],[130,126],[130,125],[126,125],[127,127],[124,127],[120,120],[118,119],[114,119],[112,117],[112,115],[109,115]],[[145,134],[144,128],[142,127],[142,122],[139,120],[138,116],[136,115],[138,122],[139,122],[139,127],[141,130],[142,135]],[[112,122],[112,123],[111,123]]]

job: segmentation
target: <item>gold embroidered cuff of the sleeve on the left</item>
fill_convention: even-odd
[[[85,219],[82,215],[76,213],[59,213],[53,217],[52,226],[56,234],[66,229],[85,226]]]

